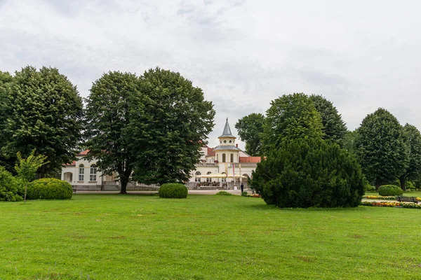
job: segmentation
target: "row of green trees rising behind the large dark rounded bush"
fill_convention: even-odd
[[[421,134],[413,125],[402,126],[386,109],[368,114],[359,128],[350,132],[340,113],[321,95],[286,94],[272,101],[266,116],[251,113],[236,123],[246,152],[269,158],[286,139],[323,139],[356,157],[369,183],[408,181],[420,188]]]

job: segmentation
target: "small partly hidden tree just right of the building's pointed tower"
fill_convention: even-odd
[[[241,141],[246,142],[246,153],[253,156],[261,155],[263,125],[265,116],[261,113],[250,113],[238,120],[235,128]]]

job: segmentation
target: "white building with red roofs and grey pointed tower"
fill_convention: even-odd
[[[228,119],[225,123],[222,135],[218,137],[220,145],[215,148],[203,146],[200,162],[196,164],[196,170],[192,170],[191,179],[186,185],[188,188],[233,188],[242,183],[247,184],[247,178],[255,170],[260,157],[250,157],[238,148],[235,143],[236,137],[232,135]],[[96,168],[96,160],[88,162],[83,151],[76,155],[77,160],[62,168],[62,180],[69,182],[76,190],[119,190],[119,181],[116,176],[102,176]],[[208,178],[203,178],[206,176]],[[212,178],[212,176],[214,176]],[[147,188],[139,183],[131,183],[128,189]],[[151,186],[151,188],[155,188]]]

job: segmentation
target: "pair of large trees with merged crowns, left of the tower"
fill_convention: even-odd
[[[150,69],[143,76],[109,72],[93,83],[86,106],[88,158],[116,172],[121,193],[130,179],[184,182],[199,162],[215,111],[180,73]]]

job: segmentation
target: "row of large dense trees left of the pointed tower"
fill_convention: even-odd
[[[130,180],[189,179],[213,129],[215,111],[180,73],[149,69],[142,76],[110,71],[84,100],[58,69],[0,71],[0,165],[14,172],[18,152],[45,155],[38,177],[55,176],[82,148],[103,174]]]

